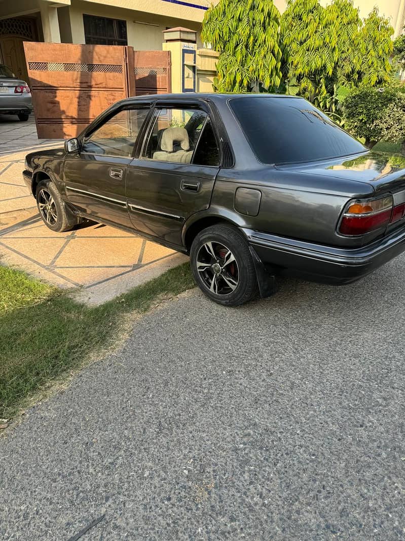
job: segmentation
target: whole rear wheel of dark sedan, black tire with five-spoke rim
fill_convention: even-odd
[[[190,260],[197,285],[218,304],[239,306],[258,294],[253,258],[236,227],[221,224],[200,231],[193,240]]]

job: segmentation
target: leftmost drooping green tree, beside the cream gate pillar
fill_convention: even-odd
[[[220,0],[206,11],[201,38],[219,52],[219,91],[280,84],[280,12],[273,0]]]

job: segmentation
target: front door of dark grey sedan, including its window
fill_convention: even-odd
[[[132,227],[126,204],[126,172],[149,113],[149,104],[114,111],[86,134],[76,153],[66,155],[66,197],[82,214]]]

